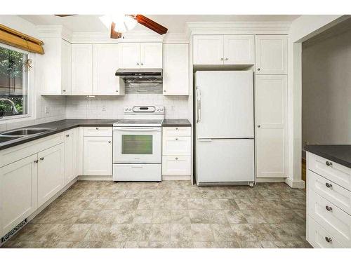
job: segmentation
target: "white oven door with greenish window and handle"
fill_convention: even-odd
[[[161,163],[161,128],[114,127],[114,163]]]

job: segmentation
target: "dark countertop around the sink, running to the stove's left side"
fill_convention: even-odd
[[[34,126],[22,127],[22,128],[53,128],[54,130],[50,130],[48,132],[41,133],[39,135],[21,137],[16,140],[1,142],[0,150],[13,147],[18,144],[23,144],[25,142],[31,142],[33,140],[37,140],[42,137],[53,135],[55,133],[62,133],[65,130],[76,128],[79,126],[86,126],[86,127],[88,126],[110,127],[111,126],[112,127],[113,123],[117,121],[120,121],[120,119],[65,119],[61,121],[52,121],[48,123],[37,124]],[[18,130],[18,129],[14,129],[14,130]]]

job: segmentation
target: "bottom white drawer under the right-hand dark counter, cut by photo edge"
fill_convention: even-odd
[[[345,248],[312,217],[308,217],[308,242],[313,248]]]

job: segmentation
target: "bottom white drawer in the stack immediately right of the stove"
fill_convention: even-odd
[[[162,175],[190,175],[191,156],[163,156]]]

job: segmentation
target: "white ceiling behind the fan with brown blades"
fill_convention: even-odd
[[[60,18],[55,15],[20,15],[34,25],[63,25],[72,32],[107,32],[100,15],[74,15]],[[168,32],[185,32],[186,22],[291,22],[300,15],[146,15],[168,28]],[[138,25],[134,30],[144,30]]]

